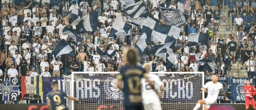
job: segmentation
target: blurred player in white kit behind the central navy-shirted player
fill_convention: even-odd
[[[156,74],[149,74],[150,66],[147,63],[143,64],[143,68],[148,74],[148,79],[154,82],[154,88],[161,88],[161,91],[157,92],[157,90],[151,88],[145,78],[141,78],[142,100],[145,110],[162,110],[159,98],[162,96],[163,83]]]

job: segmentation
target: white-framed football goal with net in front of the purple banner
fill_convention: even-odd
[[[204,72],[163,73],[166,77],[160,77],[164,87],[160,98],[162,110],[192,110],[198,100],[204,99],[201,91]],[[123,92],[116,88],[118,74],[119,72],[72,72],[65,76],[67,94],[79,99],[76,102],[67,98],[69,110],[124,110]],[[160,87],[157,88],[160,91]],[[200,110],[202,109],[201,107]]]

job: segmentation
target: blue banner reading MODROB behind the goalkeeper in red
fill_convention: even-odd
[[[253,78],[233,78],[231,84],[232,101],[245,102],[244,85],[246,80],[250,80],[250,85],[253,85]]]

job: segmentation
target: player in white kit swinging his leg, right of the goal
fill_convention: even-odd
[[[198,110],[201,106],[201,104],[206,104],[204,106],[204,110],[208,110],[212,104],[215,103],[215,101],[218,98],[218,94],[221,91],[223,96],[225,97],[225,100],[228,101],[228,98],[226,96],[226,93],[223,91],[223,85],[218,82],[218,75],[213,74],[212,75],[212,81],[207,82],[203,88],[201,88],[204,92],[207,92],[207,98],[199,100],[198,103],[195,105],[195,108],[193,110]]]

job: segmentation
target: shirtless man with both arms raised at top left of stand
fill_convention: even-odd
[[[14,1],[13,1],[13,2],[14,2]],[[32,2],[31,2],[31,3],[32,3]],[[23,19],[24,19],[23,10],[24,10],[25,8],[29,8],[29,6],[31,5],[31,3],[29,3],[28,6],[25,6],[25,5],[22,4],[22,3],[20,3],[18,6],[16,6],[15,3],[13,3],[13,5],[14,5],[14,6],[17,8],[17,10],[18,10],[18,21],[17,21],[17,23],[18,23],[18,25],[19,25],[20,27],[23,26]]]

